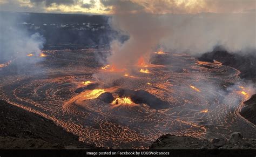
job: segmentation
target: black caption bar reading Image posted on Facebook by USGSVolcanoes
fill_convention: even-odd
[[[0,157],[9,156],[256,156],[256,149],[2,149]]]

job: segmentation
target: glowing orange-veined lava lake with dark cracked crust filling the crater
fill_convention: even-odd
[[[101,147],[147,148],[163,134],[255,138],[255,125],[239,114],[251,93],[238,70],[166,52],[127,73],[100,64],[104,53],[45,50],[26,64],[17,57],[1,67],[0,96]]]

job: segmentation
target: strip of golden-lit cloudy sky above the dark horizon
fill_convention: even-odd
[[[76,12],[105,13],[114,12],[153,14],[163,13],[234,13],[254,11],[255,0],[0,0],[0,10],[28,12]],[[63,6],[63,7],[62,7]],[[64,7],[65,6],[65,7]],[[49,9],[50,8],[50,9]]]

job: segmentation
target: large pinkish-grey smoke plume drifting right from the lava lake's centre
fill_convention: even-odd
[[[206,2],[203,4],[207,6]],[[163,10],[168,9],[169,6],[161,3],[154,8],[150,8],[152,5],[143,8],[145,3],[142,2],[114,1],[111,5],[114,8],[110,20],[112,28],[130,36],[123,44],[118,40],[112,42],[112,56],[108,58],[112,65],[123,68],[136,63],[142,56],[148,59],[159,46],[165,51],[192,55],[212,51],[219,45],[234,53],[256,49],[255,11],[234,13],[239,5],[230,6],[230,12],[198,13],[198,10],[192,11],[192,8],[177,3],[172,10],[179,14],[156,13],[160,6]],[[217,5],[219,3],[212,3],[210,8],[213,10]],[[189,14],[191,11],[195,14]]]

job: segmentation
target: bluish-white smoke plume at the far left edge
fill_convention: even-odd
[[[24,19],[17,14],[1,12],[0,14],[0,60],[6,61],[19,57],[19,62],[26,62],[29,53],[41,53],[45,38],[39,33],[30,34],[22,28]]]

